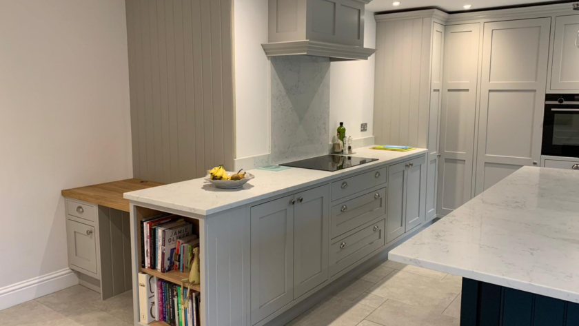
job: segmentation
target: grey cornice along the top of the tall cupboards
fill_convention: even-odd
[[[579,12],[573,12],[571,8],[571,2],[569,3],[556,3],[552,5],[542,5],[542,6],[531,6],[522,8],[507,8],[507,9],[495,9],[495,10],[485,10],[476,12],[458,12],[456,14],[449,14],[443,10],[438,9],[426,9],[426,10],[414,10],[405,12],[392,12],[391,14],[376,14],[374,19],[376,22],[383,21],[399,21],[405,19],[417,19],[417,18],[434,18],[442,21],[443,23],[460,23],[462,21],[476,21],[483,19],[506,19],[509,17],[520,17],[521,15],[529,16],[551,16],[552,14],[578,14]]]

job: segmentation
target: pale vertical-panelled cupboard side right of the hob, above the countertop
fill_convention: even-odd
[[[431,18],[380,21],[376,16],[378,144],[427,147],[431,28]]]

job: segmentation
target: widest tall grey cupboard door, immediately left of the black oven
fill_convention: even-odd
[[[476,194],[538,166],[551,18],[485,23]]]

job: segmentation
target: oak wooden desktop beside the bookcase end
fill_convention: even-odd
[[[158,187],[163,183],[145,181],[140,179],[126,179],[99,185],[88,185],[73,189],[63,190],[62,196],[86,201],[96,205],[114,208],[129,212],[129,201],[123,198],[125,192],[134,192],[152,187]]]

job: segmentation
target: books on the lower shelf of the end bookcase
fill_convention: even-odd
[[[163,321],[171,326],[198,326],[199,292],[149,274],[139,273],[139,315],[141,323]]]

